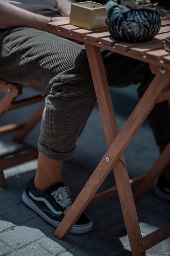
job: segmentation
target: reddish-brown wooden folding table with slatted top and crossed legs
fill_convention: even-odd
[[[111,37],[107,29],[89,31],[72,26],[69,24],[69,19],[63,22],[48,23],[47,31],[85,44],[108,145],[106,154],[84,188],[74,203],[66,209],[65,217],[56,229],[54,236],[60,239],[65,237],[88,204],[118,192],[132,255],[146,255],[146,250],[170,237],[170,225],[142,238],[135,202],[138,202],[146,193],[169,162],[170,143],[150,171],[146,175],[135,178],[132,182],[129,180],[126,170],[123,151],[156,103],[169,100],[170,105],[170,54],[165,51],[163,42],[165,37],[170,36],[170,13],[162,19],[162,27],[155,38],[150,42],[141,44],[118,42]],[[150,86],[120,132],[117,128],[100,48],[148,62],[152,73],[155,74]],[[116,187],[96,194],[112,168]],[[131,185],[137,183],[139,185],[133,197]]]

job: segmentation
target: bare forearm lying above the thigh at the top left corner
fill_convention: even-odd
[[[0,0],[0,29],[31,27],[46,30],[49,18],[35,14]]]

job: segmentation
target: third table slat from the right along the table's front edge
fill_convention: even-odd
[[[147,44],[141,46],[135,46],[130,48],[130,52],[133,54],[144,55],[148,51],[156,50],[156,49],[163,49],[164,43],[154,43],[154,44]]]

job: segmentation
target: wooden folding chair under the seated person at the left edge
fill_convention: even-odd
[[[5,96],[0,101],[0,116],[5,112],[21,108],[39,101],[43,101],[45,97],[41,95],[17,100],[16,98],[22,94],[22,87],[19,85],[14,85],[6,81],[0,80],[0,91],[5,93]],[[0,127],[0,135],[6,134],[12,131],[18,131],[14,136],[14,141],[20,142],[26,135],[31,131],[31,129],[39,122],[41,119],[44,109],[44,104],[33,114],[33,116],[26,123],[21,124],[9,124]],[[20,163],[27,162],[36,159],[38,156],[38,151],[30,146],[21,146],[19,149],[0,155],[0,186],[6,187],[6,180],[3,174],[3,170],[10,168]]]

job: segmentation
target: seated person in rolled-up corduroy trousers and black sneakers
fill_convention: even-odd
[[[54,227],[72,203],[62,180],[63,161],[73,157],[77,139],[96,103],[85,46],[45,31],[46,23],[66,19],[74,2],[0,0],[0,78],[46,96],[38,167],[22,200]],[[102,50],[102,57],[108,83],[116,87],[140,83],[141,97],[154,77],[148,64],[106,50]],[[163,102],[156,104],[149,115],[160,151],[170,141],[167,113],[169,105]],[[164,191],[165,187],[170,189],[169,170],[170,165],[163,170],[158,189],[170,200],[170,190]],[[92,225],[83,213],[70,232],[85,233]]]

